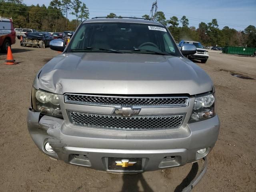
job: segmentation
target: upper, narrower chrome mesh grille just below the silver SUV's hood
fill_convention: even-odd
[[[110,106],[188,106],[188,97],[122,97],[65,94],[65,102]]]

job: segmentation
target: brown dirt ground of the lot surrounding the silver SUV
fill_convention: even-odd
[[[17,65],[4,65],[0,54],[0,191],[1,192],[171,192],[194,178],[198,164],[145,172],[110,174],[51,160],[36,147],[26,116],[34,76],[58,53],[50,48],[12,46]],[[221,130],[208,155],[208,170],[193,191],[256,191],[256,58],[210,51],[206,64],[197,62],[216,88]]]

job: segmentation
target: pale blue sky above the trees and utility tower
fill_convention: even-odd
[[[27,5],[49,5],[51,0],[24,0]],[[110,12],[117,16],[136,16],[150,14],[154,0],[81,0],[89,8],[90,18],[106,16]],[[216,18],[219,28],[229,26],[236,30],[244,30],[249,25],[256,26],[256,0],[157,0],[158,11],[165,14],[166,19],[185,15],[189,26],[200,22],[211,22]],[[68,15],[68,19],[75,19]]]

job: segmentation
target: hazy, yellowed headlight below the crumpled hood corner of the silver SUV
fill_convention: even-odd
[[[63,118],[60,110],[59,95],[46,92],[44,90],[36,90],[32,87],[32,106],[36,112],[44,115]]]

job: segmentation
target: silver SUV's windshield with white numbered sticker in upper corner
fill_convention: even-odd
[[[105,49],[105,50],[96,50]],[[180,55],[166,28],[152,24],[95,22],[78,28],[67,52],[105,52],[118,50],[129,53]]]

